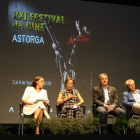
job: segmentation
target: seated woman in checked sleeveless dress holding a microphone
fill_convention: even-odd
[[[66,89],[60,91],[57,99],[57,104],[62,104],[61,113],[66,114],[67,118],[81,117],[81,111],[77,107],[84,103],[80,93],[73,89],[73,84],[74,80],[67,78],[65,81]]]

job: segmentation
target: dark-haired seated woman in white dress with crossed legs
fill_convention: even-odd
[[[50,118],[48,112],[46,111],[46,105],[49,104],[47,91],[42,89],[44,85],[44,78],[37,76],[33,79],[31,86],[27,86],[22,97],[23,114],[31,115],[34,114],[34,121],[40,124],[43,113],[47,118]],[[42,99],[44,101],[35,102],[37,99]],[[36,127],[35,134],[39,134],[39,127]]]

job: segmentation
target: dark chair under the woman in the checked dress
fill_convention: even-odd
[[[80,108],[81,109],[81,117],[85,117],[85,109],[86,109],[86,106],[85,105],[80,105]],[[62,104],[61,105],[56,105],[56,117],[58,118],[66,118],[67,115],[66,114],[62,114],[61,113],[61,110],[62,110]]]

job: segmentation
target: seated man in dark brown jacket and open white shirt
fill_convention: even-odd
[[[103,116],[103,124],[107,124],[108,113],[118,116],[125,114],[124,110],[118,107],[119,100],[114,87],[108,86],[108,76],[106,73],[99,75],[100,85],[93,88],[93,103],[97,105],[97,113]],[[107,131],[107,127],[103,128]]]

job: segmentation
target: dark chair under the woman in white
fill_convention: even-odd
[[[18,134],[20,134],[20,125],[21,125],[21,120],[22,120],[22,134],[23,134],[23,126],[24,126],[24,118],[33,118],[34,117],[34,114],[32,115],[25,115],[23,114],[23,106],[24,104],[23,103],[19,103],[19,112],[20,112],[20,120],[19,120],[19,132]],[[48,111],[48,114],[50,113],[50,104],[48,104],[46,106],[46,110]],[[43,119],[44,119],[45,115],[43,114]],[[42,134],[44,134],[44,130],[42,130]]]

